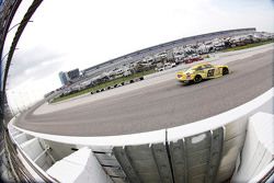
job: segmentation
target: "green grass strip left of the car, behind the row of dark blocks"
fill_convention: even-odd
[[[115,84],[119,84],[119,83],[125,82],[125,81],[130,81],[132,79],[140,78],[140,77],[144,77],[146,75],[153,73],[153,72],[156,72],[156,71],[152,69],[152,70],[148,70],[148,71],[144,71],[144,72],[138,72],[138,73],[135,73],[135,75],[132,75],[132,76],[128,76],[128,77],[117,78],[117,79],[114,79],[112,81],[107,81],[107,82],[100,83],[98,85],[81,90],[81,91],[79,91],[77,93],[73,93],[73,94],[68,94],[68,95],[65,95],[65,96],[56,98],[56,99],[53,100],[52,103],[65,101],[65,100],[76,98],[76,96],[79,96],[79,95],[82,95],[82,94],[85,94],[85,93],[95,92],[96,90],[105,89],[107,87],[113,87]]]

